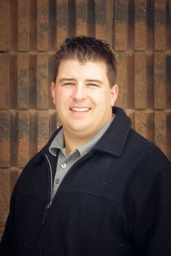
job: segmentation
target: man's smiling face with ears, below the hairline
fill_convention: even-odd
[[[88,136],[98,132],[112,117],[118,87],[110,88],[103,62],[62,60],[56,84],[51,86],[63,129]]]

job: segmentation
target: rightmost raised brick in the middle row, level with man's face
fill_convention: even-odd
[[[165,98],[165,54],[154,53],[154,108],[165,108]]]

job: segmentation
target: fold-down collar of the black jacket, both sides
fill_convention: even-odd
[[[131,128],[131,120],[122,108],[113,107],[112,112],[115,114],[115,118],[113,119],[108,130],[95,145],[93,150],[99,150],[119,157],[122,155],[129,130]],[[43,155],[50,154],[49,147],[61,128],[62,126],[53,134],[49,142],[36,155],[38,158],[35,156],[35,162],[40,162],[43,160]]]

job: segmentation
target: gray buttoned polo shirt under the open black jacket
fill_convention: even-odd
[[[78,160],[79,157],[82,157],[83,155],[88,153],[92,148],[94,148],[94,146],[97,144],[99,139],[110,127],[114,117],[115,117],[115,114],[112,114],[111,120],[105,126],[103,126],[87,144],[76,148],[76,150],[71,152],[68,156],[66,156],[66,148],[64,148],[63,129],[61,129],[60,132],[56,135],[56,137],[54,138],[54,140],[52,141],[49,147],[49,151],[53,156],[57,156],[57,150],[58,148],[60,149],[59,155],[58,155],[56,174],[55,174],[55,179],[53,184],[52,198],[54,198],[54,195],[58,187],[60,186],[61,181],[63,180],[64,176],[66,175],[68,170],[71,168],[71,166]]]

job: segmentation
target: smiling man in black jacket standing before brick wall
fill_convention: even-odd
[[[114,107],[115,80],[102,41],[66,39],[57,51],[62,127],[14,187],[0,255],[171,255],[171,163]]]

